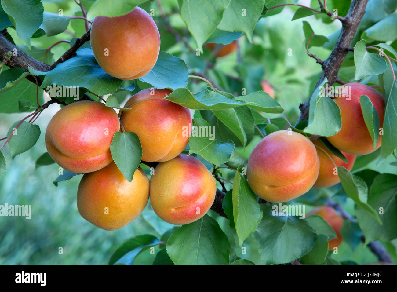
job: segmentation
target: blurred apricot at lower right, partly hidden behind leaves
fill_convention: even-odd
[[[343,226],[343,218],[333,208],[328,206],[313,208],[312,211],[307,213],[306,217],[310,215],[321,216],[335,231],[337,238],[328,241],[328,249],[333,250],[334,247],[338,247],[343,241],[340,232]]]

